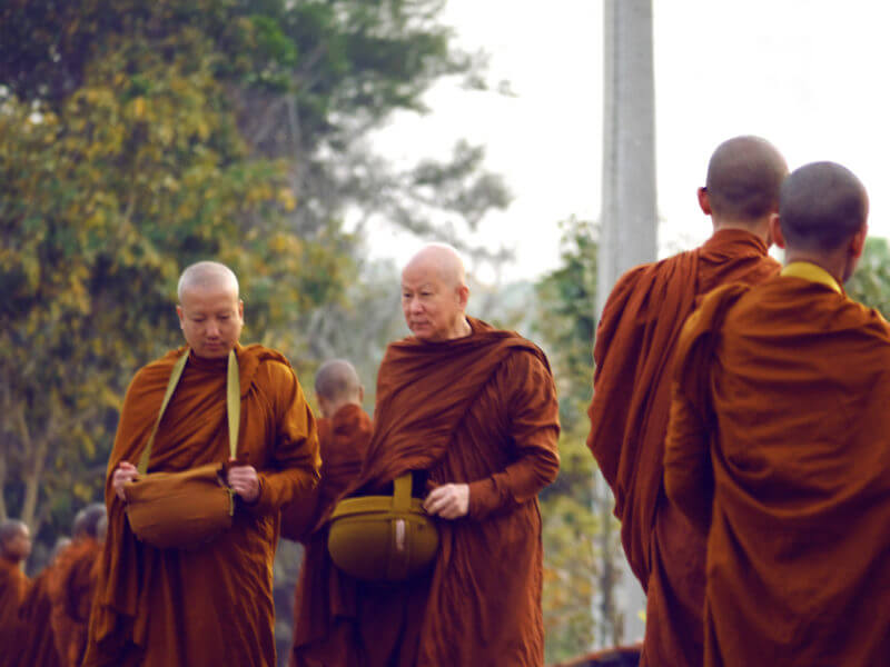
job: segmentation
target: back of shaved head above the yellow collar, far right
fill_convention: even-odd
[[[834,162],[804,165],[782,186],[779,223],[790,250],[837,250],[862,230],[868,213],[862,182]]]

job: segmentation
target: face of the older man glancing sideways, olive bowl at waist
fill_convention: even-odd
[[[408,266],[402,272],[402,311],[408,329],[431,342],[457,338],[467,291],[444,280],[434,267]]]

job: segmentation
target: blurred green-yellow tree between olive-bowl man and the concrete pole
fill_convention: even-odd
[[[563,427],[560,477],[541,495],[550,661],[585,653],[597,641],[612,644],[621,627],[612,599],[620,557],[612,499],[604,485],[594,485],[596,464],[586,447],[597,229],[575,218],[561,228],[562,262],[536,285],[535,320],[556,378]]]

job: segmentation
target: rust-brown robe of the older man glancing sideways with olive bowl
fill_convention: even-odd
[[[556,391],[537,347],[467,320],[465,338],[390,344],[377,375],[374,436],[347,494],[418,470],[468,484],[469,512],[437,521],[428,576],[340,577],[364,667],[543,665],[537,494],[558,472]]]

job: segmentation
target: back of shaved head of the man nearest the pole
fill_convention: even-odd
[[[708,163],[708,197],[715,218],[733,222],[775,212],[788,163],[760,137],[735,137],[721,143]]]

